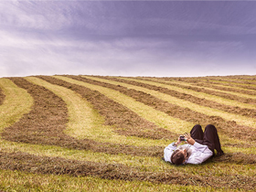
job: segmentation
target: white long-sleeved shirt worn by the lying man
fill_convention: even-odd
[[[209,157],[213,155],[212,151],[209,150],[207,145],[198,144],[197,142],[194,145],[184,144],[185,146],[190,147],[192,154],[188,157],[185,164],[201,164],[204,161],[208,160]],[[171,156],[176,150],[175,143],[169,144],[165,147],[164,157],[166,162],[171,162]]]

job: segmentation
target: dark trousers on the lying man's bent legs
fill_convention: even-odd
[[[208,145],[208,148],[213,152],[214,149],[218,153],[223,153],[221,150],[219,135],[214,125],[208,124],[203,132],[201,125],[196,124],[190,131],[191,137],[198,143]]]

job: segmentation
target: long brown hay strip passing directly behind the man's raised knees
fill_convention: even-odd
[[[249,147],[250,146],[251,147],[253,145],[253,144],[251,145],[251,143],[250,144],[248,143],[249,140],[254,140],[253,135],[254,135],[254,133],[256,133],[256,130],[253,128],[241,127],[241,126],[238,126],[237,124],[234,124],[233,122],[225,122],[221,118],[209,117],[202,113],[192,112],[188,109],[183,109],[176,105],[172,105],[166,101],[159,100],[159,99],[151,96],[150,94],[146,94],[142,91],[126,89],[126,88],[122,87],[119,83],[117,83],[117,85],[114,85],[114,84],[109,84],[106,82],[89,80],[89,79],[81,78],[81,77],[77,77],[77,76],[69,76],[69,77],[71,77],[74,80],[80,80],[80,81],[84,81],[87,83],[91,83],[93,85],[98,85],[98,86],[106,87],[106,88],[109,88],[109,89],[112,89],[115,91],[120,91],[120,92],[124,93],[125,95],[132,97],[136,101],[143,102],[144,104],[149,105],[158,111],[165,112],[168,115],[189,121],[191,123],[199,122],[200,124],[202,124],[204,126],[206,126],[208,123],[213,123],[218,127],[219,133],[224,133],[224,134],[228,135],[225,137],[225,141],[227,141],[229,143],[229,146],[230,146],[230,144],[233,144],[233,145],[235,144],[236,147],[238,147],[238,146],[240,146],[240,147]],[[105,79],[105,78],[103,78],[103,79]],[[211,119],[211,121],[209,121],[208,119]],[[241,134],[242,134],[242,137],[240,137]],[[240,138],[240,141],[237,141],[237,138]]]

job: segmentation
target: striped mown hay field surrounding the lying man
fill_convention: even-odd
[[[0,190],[254,191],[256,76],[0,79]],[[195,124],[225,155],[162,160]]]

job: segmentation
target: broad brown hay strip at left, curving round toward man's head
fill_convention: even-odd
[[[22,78],[10,78],[27,90],[35,103],[32,110],[18,123],[5,128],[2,137],[11,142],[48,144],[65,148],[91,150],[112,155],[163,156],[163,147],[139,147],[124,144],[99,143],[88,139],[78,140],[63,133],[68,122],[66,103],[53,92]],[[91,95],[89,97],[96,97]],[[99,101],[100,102],[100,101]],[[108,106],[110,107],[110,106]]]

